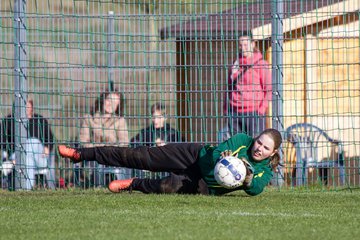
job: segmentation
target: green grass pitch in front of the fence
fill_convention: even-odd
[[[257,197],[0,192],[1,239],[358,239],[360,190]]]

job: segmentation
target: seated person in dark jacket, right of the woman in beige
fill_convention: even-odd
[[[151,125],[144,128],[131,139],[131,146],[164,146],[167,143],[180,142],[180,133],[166,123],[166,108],[162,103],[151,106]]]

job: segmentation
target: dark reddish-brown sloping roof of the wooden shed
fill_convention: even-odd
[[[163,28],[160,30],[160,36],[161,39],[234,39],[249,29],[270,24],[272,21],[271,2],[273,1],[248,2],[222,13],[204,14]],[[284,19],[339,2],[342,0],[284,1]]]

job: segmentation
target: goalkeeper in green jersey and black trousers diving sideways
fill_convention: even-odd
[[[266,129],[256,138],[244,133],[236,134],[218,146],[173,143],[160,147],[74,149],[60,145],[58,150],[61,156],[73,162],[88,159],[112,166],[171,172],[162,179],[115,180],[109,185],[112,192],[133,189],[143,193],[223,195],[244,190],[255,196],[270,183],[280,161],[281,142],[279,131]],[[243,185],[235,189],[220,186],[214,177],[215,164],[228,155],[245,158],[252,169],[250,171],[248,167]]]

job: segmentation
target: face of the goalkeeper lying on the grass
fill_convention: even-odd
[[[274,149],[274,147],[274,140],[270,136],[262,134],[255,140],[251,149],[251,156],[255,161],[262,161],[277,152],[277,149]]]

